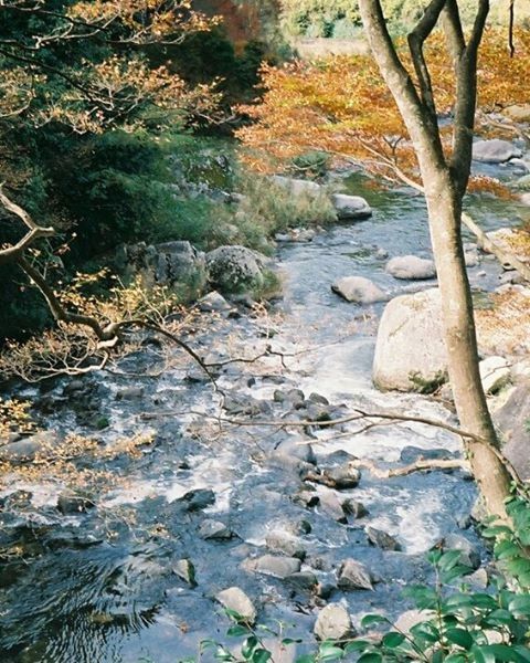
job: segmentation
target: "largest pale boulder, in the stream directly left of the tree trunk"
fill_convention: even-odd
[[[372,372],[375,387],[412,391],[412,376],[425,382],[439,380],[446,368],[438,288],[391,299],[379,324]]]

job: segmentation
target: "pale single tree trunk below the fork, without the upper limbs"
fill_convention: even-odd
[[[499,441],[486,403],[478,370],[473,301],[460,236],[462,202],[446,173],[433,179],[425,198],[442,296],[449,380],[460,424],[488,442],[466,441],[469,463],[488,513],[506,518],[505,499],[511,476],[495,453]]]

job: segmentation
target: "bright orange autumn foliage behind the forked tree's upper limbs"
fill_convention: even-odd
[[[510,59],[506,34],[489,30],[479,60],[479,104],[485,109],[528,102],[530,33],[518,32]],[[399,44],[409,71],[405,44]],[[444,36],[434,33],[425,45],[438,115],[452,112],[455,81]],[[414,77],[413,77],[414,80]],[[415,177],[416,161],[393,97],[370,55],[332,56],[314,63],[264,66],[259,103],[242,109],[254,124],[239,130],[248,148],[244,159],[261,171],[307,150],[362,160],[372,172],[395,179],[396,170]],[[442,129],[451,151],[451,127]]]

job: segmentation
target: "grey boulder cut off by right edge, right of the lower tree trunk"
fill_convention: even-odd
[[[518,385],[494,414],[502,433],[502,452],[523,481],[530,480],[530,379]]]

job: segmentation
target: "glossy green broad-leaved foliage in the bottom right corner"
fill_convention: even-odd
[[[315,648],[286,636],[284,624],[275,629],[253,627],[242,615],[226,610],[232,621],[226,635],[230,640],[237,639],[239,645],[205,640],[201,652],[212,650],[216,661],[265,663],[274,661],[271,651],[274,640],[279,651],[305,644],[309,653],[295,656],[296,663],[530,661],[530,504],[526,497],[513,497],[507,511],[513,529],[492,525],[484,532],[495,541],[497,565],[506,575],[496,576],[489,590],[476,591],[470,577],[473,569],[463,564],[460,550],[433,549],[427,556],[435,576],[433,586],[413,586],[404,591],[418,611],[416,623],[407,630],[398,629],[385,615],[367,614],[361,620],[363,635],[325,641]]]

